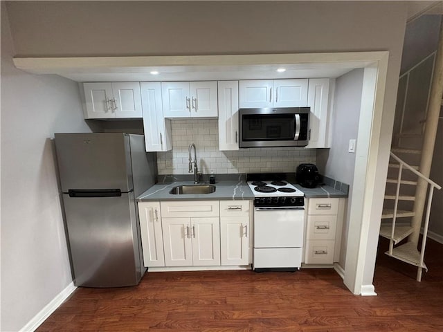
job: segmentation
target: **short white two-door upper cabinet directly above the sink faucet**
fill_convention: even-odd
[[[217,82],[162,82],[165,118],[217,117]]]

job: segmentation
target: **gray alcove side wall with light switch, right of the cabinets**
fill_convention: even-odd
[[[347,229],[352,205],[352,183],[354,181],[355,154],[347,151],[349,140],[356,139],[359,131],[363,69],[355,69],[336,79],[334,96],[334,118],[332,118],[332,147],[317,150],[317,165],[321,174],[347,183],[350,199],[343,221],[340,264],[345,268]]]

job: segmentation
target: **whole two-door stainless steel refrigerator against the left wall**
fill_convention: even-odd
[[[55,133],[75,286],[134,286],[145,273],[136,196],[154,185],[143,135]]]

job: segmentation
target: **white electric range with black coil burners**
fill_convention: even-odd
[[[253,269],[295,271],[301,266],[304,194],[284,174],[248,174],[254,194]]]

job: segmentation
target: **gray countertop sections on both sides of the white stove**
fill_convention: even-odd
[[[202,183],[208,184],[208,183]],[[147,201],[201,201],[201,200],[252,200],[254,194],[249,189],[246,181],[217,181],[215,183],[216,190],[211,194],[185,194],[177,195],[170,194],[170,190],[177,185],[193,185],[192,181],[175,181],[172,183],[157,183],[150,187],[137,197],[139,202]],[[296,188],[305,194],[307,199],[312,198],[341,198],[347,197],[345,192],[336,190],[329,185],[321,185],[316,188],[305,188],[300,185],[295,185]]]

